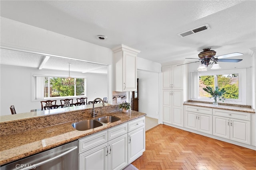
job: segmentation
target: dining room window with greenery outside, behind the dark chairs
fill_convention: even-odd
[[[86,96],[86,78],[34,75],[35,99]]]

